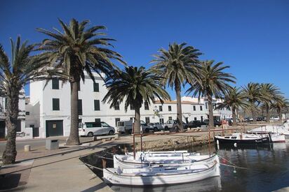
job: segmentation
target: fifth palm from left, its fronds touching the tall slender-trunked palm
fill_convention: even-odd
[[[193,93],[193,96],[206,97],[208,99],[209,110],[209,127],[214,126],[213,117],[213,96],[221,98],[231,89],[229,82],[235,83],[235,77],[230,73],[225,73],[224,69],[229,66],[222,66],[223,63],[219,62],[214,64],[213,60],[203,61],[199,70],[199,80],[195,80],[187,93]]]

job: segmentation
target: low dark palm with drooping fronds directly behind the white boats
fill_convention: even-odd
[[[125,102],[125,110],[128,106],[135,109],[135,133],[140,133],[140,108],[144,102],[154,102],[155,98],[163,103],[170,99],[168,93],[163,89],[161,80],[163,77],[156,75],[152,70],[144,67],[129,66],[124,71],[114,71],[114,75],[107,77],[105,85],[107,94],[103,102],[110,103],[110,108]]]

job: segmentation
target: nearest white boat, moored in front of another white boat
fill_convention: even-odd
[[[182,184],[216,176],[220,176],[217,161],[201,165],[103,170],[105,182],[129,186]]]

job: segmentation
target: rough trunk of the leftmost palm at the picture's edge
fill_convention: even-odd
[[[16,151],[16,126],[19,114],[19,90],[15,87],[7,90],[7,110],[6,110],[6,128],[7,142],[6,148],[2,155],[4,164],[15,163]]]

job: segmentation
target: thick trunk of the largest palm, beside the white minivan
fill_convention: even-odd
[[[79,141],[79,81],[70,82],[70,133],[66,145],[80,145]]]

